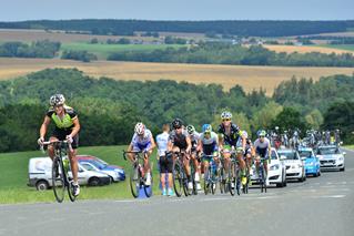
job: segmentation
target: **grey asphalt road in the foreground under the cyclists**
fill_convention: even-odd
[[[0,205],[0,235],[328,235],[353,236],[354,152],[345,172],[285,188],[74,204]]]

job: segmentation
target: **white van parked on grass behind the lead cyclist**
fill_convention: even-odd
[[[28,173],[28,186],[36,187],[38,191],[44,191],[52,186],[52,161],[50,157],[30,158]],[[69,175],[72,176],[71,172],[69,172]],[[80,185],[99,186],[111,183],[109,175],[87,170],[80,164],[78,178]]]

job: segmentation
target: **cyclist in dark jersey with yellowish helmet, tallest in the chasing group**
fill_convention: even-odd
[[[245,173],[245,162],[243,160],[246,140],[242,136],[242,132],[240,127],[232,123],[232,114],[231,112],[223,112],[221,114],[222,123],[219,125],[219,143],[220,143],[220,151],[224,158],[224,168],[225,173],[229,172],[230,167],[230,157],[231,151],[236,148],[236,158],[241,170],[241,182],[242,185],[245,185],[246,173]]]

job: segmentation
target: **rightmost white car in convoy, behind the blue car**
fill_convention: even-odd
[[[341,153],[336,145],[318,146],[316,156],[320,160],[321,171],[345,171],[345,153]]]

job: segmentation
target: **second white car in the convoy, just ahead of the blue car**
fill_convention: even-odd
[[[279,150],[281,160],[284,160],[286,166],[286,179],[306,181],[305,165],[295,150]]]

